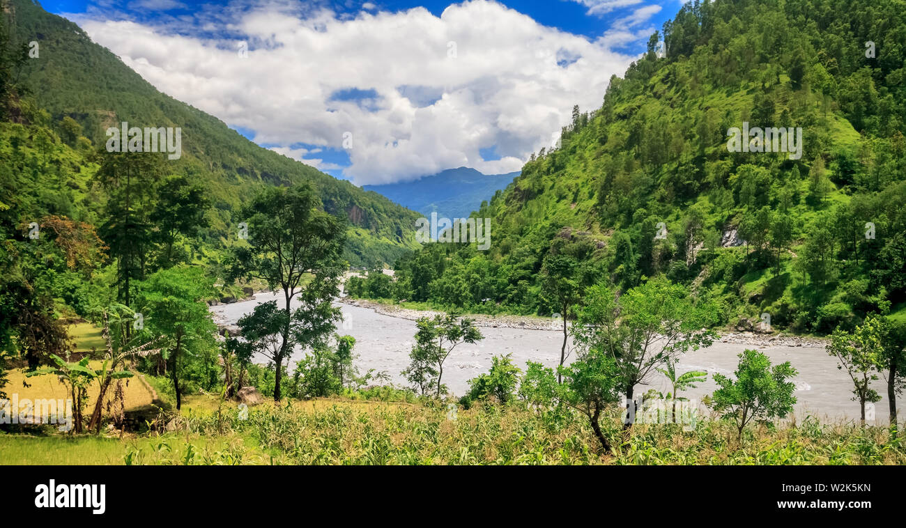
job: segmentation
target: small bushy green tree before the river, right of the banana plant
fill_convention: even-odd
[[[714,409],[732,418],[737,426],[737,437],[753,419],[772,420],[783,418],[795,405],[796,370],[789,361],[771,365],[771,360],[758,350],[744,350],[739,354],[739,364],[734,372],[736,379],[715,373],[719,389],[714,391]]]

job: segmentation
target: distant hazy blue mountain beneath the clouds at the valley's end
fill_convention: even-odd
[[[437,212],[441,217],[464,218],[477,211],[484,200],[490,200],[496,191],[506,188],[519,172],[509,174],[482,174],[474,168],[448,168],[438,174],[415,181],[366,185],[390,200],[418,211],[424,216]]]

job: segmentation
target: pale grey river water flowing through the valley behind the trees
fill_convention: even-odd
[[[257,293],[255,299],[232,304],[218,304],[210,308],[215,320],[223,324],[235,324],[255,304],[276,300],[282,305],[282,293]],[[356,366],[363,373],[369,369],[386,372],[390,381],[397,385],[407,385],[400,372],[409,365],[409,352],[412,348],[412,336],[415,334],[415,322],[374,312],[371,308],[336,304],[342,308],[343,322],[338,325],[340,334],[352,335],[355,338],[355,353],[358,354]],[[512,360],[520,369],[525,370],[526,361],[537,361],[547,367],[555,367],[560,358],[560,347],[563,333],[556,330],[527,330],[516,328],[481,327],[485,339],[476,344],[458,345],[444,363],[443,383],[450,392],[462,395],[468,390],[468,379],[487,372],[491,367],[491,358],[496,355],[512,354]],[[737,354],[753,348],[760,350],[773,363],[789,361],[799,374],[795,378],[797,403],[795,415],[804,418],[812,414],[824,421],[839,421],[859,418],[859,404],[852,401],[853,382],[843,371],[837,369],[836,360],[827,355],[823,348],[789,347],[789,346],[756,346],[740,343],[716,342],[707,349],[687,352],[679,361],[678,372],[688,370],[708,371],[708,380],[699,384],[696,389],[683,391],[680,396],[693,400],[711,394],[717,384],[710,374],[719,372],[731,375],[737,365]],[[302,359],[304,351],[295,350],[287,362],[289,370],[295,368],[295,361]],[[574,352],[567,362],[574,357]],[[255,362],[265,363],[264,356]],[[654,372],[647,380],[647,385],[636,389],[644,392],[658,389],[668,392],[670,385],[659,372]],[[887,387],[885,380],[874,383],[874,389],[882,395],[882,400],[875,405],[877,424],[886,424],[888,416]],[[903,409],[903,398],[897,398],[897,406]]]

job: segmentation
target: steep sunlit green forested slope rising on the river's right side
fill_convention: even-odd
[[[721,302],[725,323],[902,317],[904,14],[901,0],[685,5],[600,109],[575,110],[477,212],[490,250],[429,245],[398,265],[400,298],[551,313],[557,275],[581,290],[667,274]],[[729,151],[744,127],[801,128],[801,156]]]

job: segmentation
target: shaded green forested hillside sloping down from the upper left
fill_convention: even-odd
[[[36,105],[49,112],[43,124],[57,135],[66,135],[67,117],[81,125],[78,134],[94,148],[103,146],[107,127],[118,127],[120,121],[139,127],[181,127],[182,157],[169,161],[166,170],[191,178],[207,191],[213,207],[208,213],[210,227],[201,235],[208,244],[216,245],[234,233],[242,221],[234,212],[257,187],[307,181],[327,212],[350,219],[346,258],[352,265],[390,263],[417,247],[412,229],[418,215],[410,210],[258,147],[217,118],[157,91],[113,53],[92,43],[78,25],[46,13],[40,5],[12,0],[9,8],[13,42],[36,41],[40,46],[39,57],[25,62],[19,81]],[[84,147],[90,149],[87,143]],[[90,189],[80,185],[73,191],[78,201]]]

